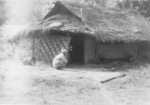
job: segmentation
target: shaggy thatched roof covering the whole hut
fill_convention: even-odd
[[[59,26],[52,24],[59,22]],[[56,2],[54,8],[37,24],[18,36],[50,31],[84,33],[102,41],[150,40],[149,22],[134,10],[95,7],[75,2]]]

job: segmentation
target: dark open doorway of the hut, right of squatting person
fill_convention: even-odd
[[[71,36],[70,64],[84,64],[84,36],[83,35]]]

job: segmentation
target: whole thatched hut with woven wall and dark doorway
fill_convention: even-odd
[[[70,62],[88,64],[93,59],[150,57],[149,30],[149,22],[134,10],[57,1],[43,20],[11,40],[34,39],[34,56],[46,62],[67,48]]]

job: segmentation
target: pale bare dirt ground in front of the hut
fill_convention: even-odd
[[[103,67],[0,62],[0,105],[150,105],[150,66],[108,71]],[[125,73],[106,83],[100,81]]]

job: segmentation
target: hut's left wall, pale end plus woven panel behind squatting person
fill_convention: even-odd
[[[31,37],[22,38],[15,47],[15,58],[21,60],[32,57],[33,49],[35,49],[34,57],[37,60],[51,63],[62,48],[68,49],[69,43],[70,37],[60,35],[43,35],[35,38],[35,41]]]

